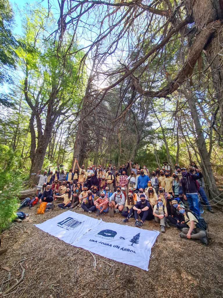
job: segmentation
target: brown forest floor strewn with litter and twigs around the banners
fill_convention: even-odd
[[[210,243],[179,238],[173,227],[160,234],[153,246],[149,271],[125,265],[84,249],[71,246],[53,237],[34,224],[42,223],[62,212],[36,215],[38,206],[21,223],[14,222],[1,234],[0,297],[223,297],[223,221],[222,212],[205,211]],[[81,208],[75,210],[83,212]],[[89,216],[95,217],[95,214]],[[103,221],[123,223],[115,214]],[[134,226],[134,219],[129,221]],[[143,229],[159,229],[154,221],[146,221]],[[24,274],[18,287],[7,292]]]

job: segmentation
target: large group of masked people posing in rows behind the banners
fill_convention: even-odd
[[[163,233],[165,228],[174,226],[181,230],[180,237],[207,244],[206,232],[196,227],[200,216],[199,195],[207,210],[213,213],[213,209],[195,162],[191,162],[188,170],[176,164],[173,173],[164,162],[151,175],[146,165],[140,167],[130,161],[119,168],[112,164],[85,168],[76,163],[76,169],[67,173],[59,167],[55,172],[49,168],[48,172],[37,173],[40,203],[61,200],[58,204],[61,209],[81,207],[85,212],[96,212],[97,216],[105,215],[110,208],[125,217],[125,223],[134,218],[135,226],[141,227],[145,220],[154,219]]]

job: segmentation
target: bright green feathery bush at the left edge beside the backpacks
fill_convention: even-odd
[[[7,228],[16,217],[18,208],[18,192],[21,190],[20,171],[17,169],[15,154],[0,145],[0,232]]]

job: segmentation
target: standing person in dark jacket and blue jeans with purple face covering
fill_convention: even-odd
[[[185,168],[181,168],[183,178],[180,182],[183,190],[184,199],[188,200],[190,210],[196,213],[197,215],[200,215],[197,184],[195,180],[202,178],[203,175],[202,173],[200,173],[199,169],[195,170],[198,173],[198,175],[187,173],[187,170]]]

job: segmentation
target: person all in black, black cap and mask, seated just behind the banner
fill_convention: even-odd
[[[137,202],[129,211],[129,214],[127,218],[123,220],[123,222],[128,222],[130,215],[134,212],[134,217],[136,219],[135,226],[142,226],[144,221],[151,220],[153,218],[152,216],[152,208],[150,206],[150,203],[148,200],[145,199],[145,195],[140,195],[140,201]],[[141,220],[139,221],[139,216]]]

